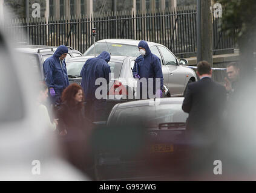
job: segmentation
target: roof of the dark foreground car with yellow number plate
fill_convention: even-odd
[[[159,99],[158,99],[159,100]],[[156,99],[155,103],[159,103]],[[160,104],[156,105],[164,105],[164,104],[182,104],[184,97],[171,97],[171,98],[160,98]],[[137,106],[153,106],[154,99],[148,100],[137,100],[126,103],[120,103],[117,105],[116,109],[126,109]]]

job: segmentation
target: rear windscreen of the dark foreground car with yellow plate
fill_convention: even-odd
[[[159,124],[167,122],[186,122],[188,115],[183,112],[182,104],[161,104],[157,106],[136,106],[117,109],[108,124],[125,125],[127,120],[138,119],[147,128],[158,128]]]

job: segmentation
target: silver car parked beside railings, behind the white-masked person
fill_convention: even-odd
[[[110,52],[111,55],[139,56],[137,45],[139,40],[129,39],[103,39],[95,43],[95,54],[102,51]],[[147,42],[151,52],[161,60],[163,71],[163,84],[165,95],[183,96],[188,83],[197,81],[195,72],[186,67],[186,59],[178,60],[176,56],[165,46],[159,43]],[[87,49],[84,55],[94,55],[94,45]],[[133,67],[133,66],[131,66]]]

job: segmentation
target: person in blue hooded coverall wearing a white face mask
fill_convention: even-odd
[[[146,41],[142,40],[139,42],[138,45],[140,56],[137,57],[135,61],[135,65],[133,67],[133,77],[134,78],[145,78],[147,81],[147,95],[146,98],[149,98],[149,88],[153,87],[153,93],[156,95],[156,97],[160,98],[163,95],[163,72],[162,72],[162,66],[160,63],[159,57],[152,54],[148,43]],[[149,78],[153,78],[153,84],[151,81],[148,81]],[[157,86],[156,84],[159,84],[159,81],[156,81],[156,78],[160,79],[160,87],[158,86],[158,89],[156,90]],[[142,83],[138,81],[137,83],[137,90],[140,92],[140,99],[146,99],[144,98],[145,95],[142,95]],[[137,91],[137,93],[138,93]],[[137,96],[138,98],[138,96]]]

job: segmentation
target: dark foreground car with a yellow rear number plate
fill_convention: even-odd
[[[116,104],[107,125],[94,131],[98,180],[148,179],[180,172],[186,162],[183,98]]]

